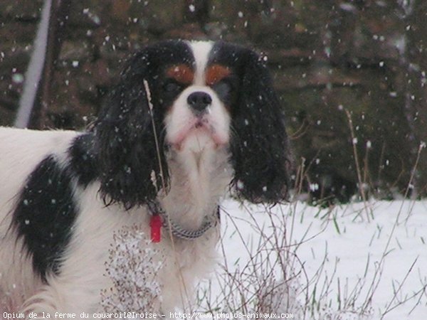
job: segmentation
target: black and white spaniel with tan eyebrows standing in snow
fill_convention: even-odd
[[[285,201],[289,163],[264,58],[224,42],[143,48],[85,132],[0,129],[0,309],[101,310],[114,235],[135,225],[164,257],[159,310],[182,308],[216,262],[221,199]]]

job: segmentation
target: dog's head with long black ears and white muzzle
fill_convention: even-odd
[[[263,59],[240,46],[166,41],[137,53],[107,97],[95,137],[101,192],[126,208],[168,183],[172,151],[226,148],[238,196],[277,203],[287,193],[283,109]]]

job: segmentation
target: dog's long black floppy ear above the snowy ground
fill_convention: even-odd
[[[232,186],[253,203],[278,203],[287,197],[291,158],[283,109],[263,59],[246,54],[233,107]]]

